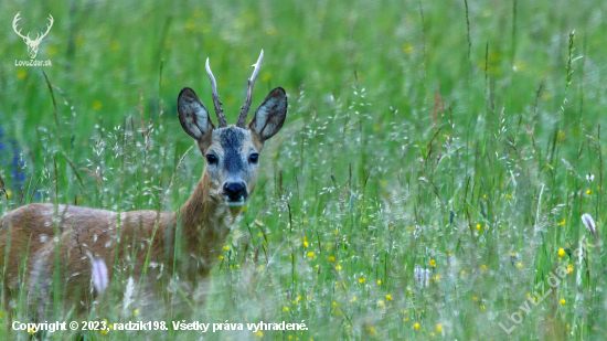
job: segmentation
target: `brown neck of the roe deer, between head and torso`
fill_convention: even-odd
[[[180,228],[185,257],[194,255],[203,270],[210,270],[220,257],[232,224],[241,210],[231,210],[211,195],[206,169],[190,199],[181,206]]]

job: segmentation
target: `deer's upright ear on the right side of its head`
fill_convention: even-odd
[[[257,132],[265,141],[283,128],[287,118],[287,93],[284,88],[273,89],[255,111],[248,128]]]

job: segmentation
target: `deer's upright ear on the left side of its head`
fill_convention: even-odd
[[[206,110],[204,104],[202,104],[193,89],[184,87],[181,93],[179,93],[177,109],[179,111],[181,127],[194,140],[202,140],[202,137],[207,131],[215,129],[209,116],[209,110]]]

